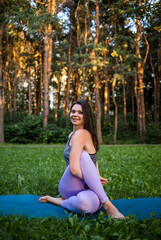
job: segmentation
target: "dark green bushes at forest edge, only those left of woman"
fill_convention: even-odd
[[[17,121],[16,121],[17,119]],[[19,121],[18,121],[19,119]],[[61,117],[56,122],[53,116],[49,117],[46,130],[43,129],[43,116],[19,115],[14,122],[6,119],[5,140],[9,143],[64,143],[72,131],[69,119]]]

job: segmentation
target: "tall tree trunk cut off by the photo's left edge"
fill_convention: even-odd
[[[4,143],[4,84],[2,76],[3,58],[2,58],[2,38],[3,28],[0,26],[0,143]]]

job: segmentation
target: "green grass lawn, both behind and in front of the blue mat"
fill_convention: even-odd
[[[58,184],[65,170],[64,146],[0,146],[0,195],[59,196]],[[100,173],[109,183],[110,199],[161,197],[161,146],[101,146]],[[161,219],[125,221],[26,219],[0,217],[0,240],[29,239],[149,239],[161,238]]]

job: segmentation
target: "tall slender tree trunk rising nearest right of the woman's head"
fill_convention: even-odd
[[[92,58],[95,60],[95,46],[98,44],[99,40],[99,0],[96,0],[96,36],[94,39],[94,48],[92,51]],[[100,101],[100,84],[97,72],[97,66],[93,66],[93,75],[94,75],[94,82],[95,82],[95,98],[96,98],[96,109],[97,109],[97,116],[96,116],[96,126],[97,126],[97,137],[98,142],[101,144],[103,142],[102,139],[102,129],[101,129],[101,101]]]

